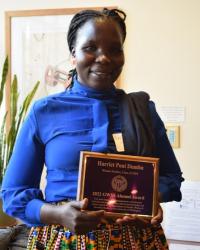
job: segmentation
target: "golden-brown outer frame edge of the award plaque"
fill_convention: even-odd
[[[98,153],[90,151],[81,151],[80,152],[80,162],[79,162],[79,175],[78,175],[78,188],[77,188],[77,200],[82,200],[85,198],[84,189],[85,189],[85,173],[87,168],[87,159],[88,157],[97,157],[102,159],[118,159],[118,160],[127,160],[132,162],[141,162],[141,163],[152,163],[153,164],[153,201],[152,201],[152,214],[137,214],[139,217],[143,218],[152,218],[157,214],[158,209],[158,176],[159,176],[159,158],[155,157],[146,157],[146,156],[132,156],[132,155],[122,155],[122,154],[110,154],[110,153]],[[130,215],[127,213],[114,213],[106,212],[106,215],[109,217],[121,217],[125,215]]]

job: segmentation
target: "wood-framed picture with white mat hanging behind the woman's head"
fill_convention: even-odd
[[[37,99],[65,88],[66,73],[72,69],[67,30],[73,15],[83,9],[100,10],[102,7],[5,12],[6,54],[10,65],[6,85],[8,111],[15,74],[19,105],[37,81],[40,81]],[[60,81],[55,80],[55,75],[59,75]]]

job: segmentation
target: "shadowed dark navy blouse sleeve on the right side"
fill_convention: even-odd
[[[155,133],[156,156],[160,158],[159,192],[162,195],[162,202],[180,201],[182,198],[180,187],[184,180],[182,172],[168,140],[165,126],[152,101],[149,107]]]

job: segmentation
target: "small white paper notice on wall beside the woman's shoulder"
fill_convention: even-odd
[[[163,106],[159,108],[164,123],[181,123],[185,121],[185,107]]]

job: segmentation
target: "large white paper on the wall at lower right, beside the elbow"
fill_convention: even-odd
[[[200,182],[182,184],[182,201],[163,205],[167,239],[200,242]]]

